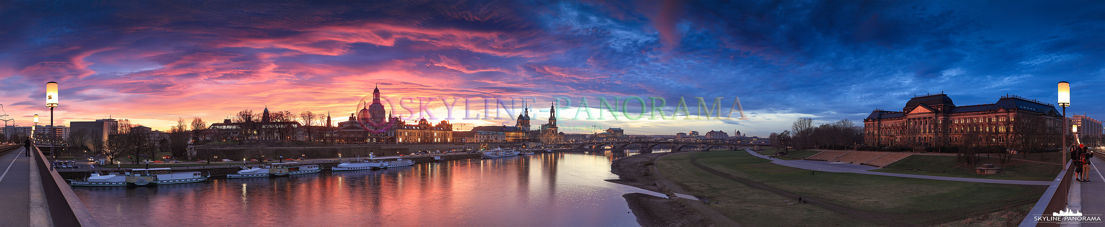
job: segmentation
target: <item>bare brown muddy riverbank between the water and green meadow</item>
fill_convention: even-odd
[[[686,192],[664,180],[663,176],[655,171],[656,159],[666,154],[670,153],[638,154],[618,158],[610,165],[610,172],[618,175],[619,178],[607,179],[607,182],[657,192],[673,197],[662,198],[640,193],[623,195],[622,197],[629,203],[630,210],[636,216],[638,224],[644,227],[739,226],[732,219],[706,207],[702,202],[675,198],[673,193],[685,194]]]

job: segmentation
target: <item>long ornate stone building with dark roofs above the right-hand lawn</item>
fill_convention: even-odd
[[[956,106],[946,94],[918,95],[902,111],[875,110],[863,120],[869,146],[1059,147],[1063,117],[1055,107],[1017,95]]]

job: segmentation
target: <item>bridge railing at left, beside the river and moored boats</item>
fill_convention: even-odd
[[[99,223],[96,223],[96,219],[88,213],[88,208],[84,207],[81,198],[76,197],[73,188],[70,188],[53,165],[50,165],[50,161],[42,154],[42,151],[38,146],[31,147],[34,147],[32,152],[34,164],[42,178],[42,190],[46,197],[50,218],[54,226],[98,227]]]

